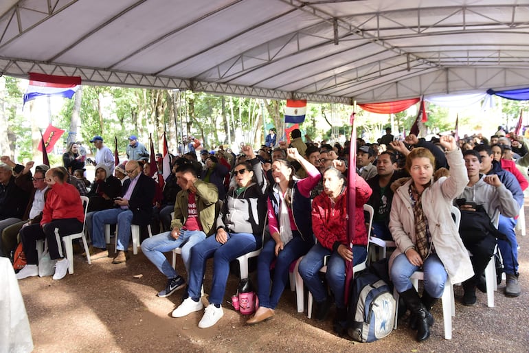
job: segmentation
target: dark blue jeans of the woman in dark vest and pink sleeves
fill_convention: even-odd
[[[297,233],[294,231],[294,233]],[[305,255],[312,244],[304,241],[300,236],[294,236],[289,241],[278,257],[275,257],[275,240],[270,239],[262,247],[262,251],[257,259],[257,284],[259,306],[275,309],[278,306],[279,298],[283,293],[286,283],[289,281],[290,264]],[[275,260],[273,276],[270,277],[270,266]],[[271,288],[270,288],[271,285]]]

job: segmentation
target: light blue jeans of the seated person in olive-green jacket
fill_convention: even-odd
[[[166,231],[144,240],[142,242],[142,253],[144,253],[150,262],[153,262],[157,269],[161,273],[164,273],[167,278],[175,278],[178,273],[172,268],[166,255],[164,255],[164,252],[172,251],[172,249],[181,247],[183,266],[185,266],[185,271],[187,271],[189,276],[191,269],[191,249],[195,244],[199,244],[199,242],[202,242],[204,239],[205,233],[203,231],[185,231],[181,229],[178,239],[172,238],[171,232]]]

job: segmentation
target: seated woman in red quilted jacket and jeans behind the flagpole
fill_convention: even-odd
[[[351,170],[354,172],[354,170]],[[314,198],[312,205],[312,222],[317,244],[312,247],[300,262],[300,275],[317,302],[316,319],[324,320],[330,305],[330,297],[322,281],[319,280],[319,269],[324,266],[324,258],[330,255],[327,262],[326,278],[330,290],[335,295],[336,318],[333,328],[342,332],[347,319],[344,301],[346,284],[346,261],[353,266],[365,260],[367,256],[368,232],[365,229],[363,205],[372,194],[371,187],[362,178],[357,178],[355,207],[355,237],[352,251],[347,236],[347,182],[343,174],[334,167],[329,167],[323,177],[324,192]]]

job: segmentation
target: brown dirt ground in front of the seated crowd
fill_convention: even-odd
[[[141,252],[125,264],[111,264],[112,259],[105,258],[89,265],[76,255],[73,275],[60,281],[31,277],[19,284],[34,352],[528,352],[529,231],[528,236],[518,236],[518,241],[523,293],[505,297],[502,282],[494,308],[486,306],[486,295],[479,291],[478,305],[469,308],[460,304],[462,288],[455,286],[451,341],[444,339],[440,303],[433,310],[436,323],[431,337],[423,343],[417,343],[414,333],[401,322],[385,339],[356,343],[333,334],[334,312],[323,323],[307,319],[306,308],[296,312],[295,293],[288,288],[270,321],[246,326],[247,317],[225,304],[221,321],[199,329],[201,312],[170,317],[181,302],[181,291],[168,298],[157,297],[166,280]],[[185,273],[180,259],[177,269]],[[206,293],[211,273],[209,264]],[[134,277],[140,274],[141,278]],[[226,301],[237,284],[238,277],[230,275]]]

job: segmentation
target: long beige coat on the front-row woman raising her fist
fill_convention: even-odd
[[[452,284],[463,282],[474,275],[469,251],[463,245],[458,229],[451,218],[452,200],[469,183],[461,150],[447,152],[450,177],[441,177],[423,192],[423,210],[428,220],[431,241]],[[398,181],[395,181],[398,183]],[[396,249],[390,258],[390,269],[394,258],[414,247],[415,221],[412,203],[409,200],[409,179],[398,187],[393,197],[390,212],[390,231]]]

